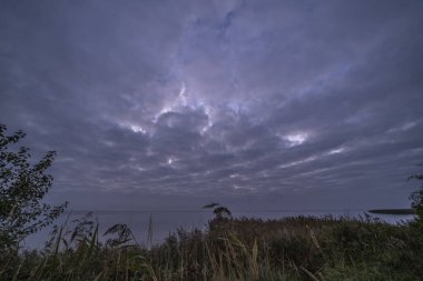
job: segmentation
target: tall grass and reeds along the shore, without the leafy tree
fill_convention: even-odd
[[[0,254],[0,280],[421,280],[423,233],[370,218],[216,215],[138,244],[125,224],[100,242],[89,217],[55,229],[42,250]]]

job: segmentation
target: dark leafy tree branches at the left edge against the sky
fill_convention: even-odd
[[[24,138],[22,131],[6,134],[0,124],[0,250],[17,248],[22,239],[50,224],[59,217],[66,203],[50,207],[42,202],[52,184],[46,173],[55,152],[49,151],[31,164],[29,149],[11,147]]]

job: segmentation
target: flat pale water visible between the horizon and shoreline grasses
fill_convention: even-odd
[[[260,218],[260,219],[281,219],[295,215],[314,215],[323,217],[332,214],[333,217],[350,215],[353,218],[364,218],[364,210],[354,211],[233,211],[235,218]],[[81,219],[87,212],[76,211],[65,213],[56,221],[56,224],[62,224],[68,219],[68,224]],[[413,215],[393,215],[393,214],[371,214],[372,218],[378,218],[388,223],[401,223],[413,220]],[[207,222],[213,218],[210,210],[201,211],[97,211],[92,213],[92,219],[98,220],[100,234],[116,223],[126,223],[136,237],[139,243],[146,244],[148,238],[148,225],[153,221],[153,243],[160,243],[169,233],[178,228],[191,230],[198,228],[206,229]],[[75,224],[73,224],[75,225]],[[41,248],[48,238],[50,229],[42,230],[26,240],[27,248]]]

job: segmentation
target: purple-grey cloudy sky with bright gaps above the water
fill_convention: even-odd
[[[406,208],[423,1],[0,1],[0,123],[71,209]]]

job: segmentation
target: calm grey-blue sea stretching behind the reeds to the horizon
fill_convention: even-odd
[[[372,214],[366,210],[235,210],[234,218],[257,218],[263,220],[283,219],[287,217],[312,215],[333,218],[348,217],[355,219],[380,220],[391,224],[406,223],[414,219],[413,214]],[[213,210],[156,210],[156,211],[67,211],[50,227],[28,237],[22,249],[42,249],[51,237],[53,225],[72,230],[83,219],[99,223],[100,241],[106,241],[104,233],[115,224],[126,224],[138,244],[151,247],[161,243],[178,230],[207,230],[208,221],[214,218]]]

